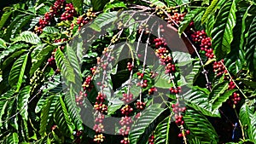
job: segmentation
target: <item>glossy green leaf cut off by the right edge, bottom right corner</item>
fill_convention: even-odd
[[[247,126],[245,132],[248,135],[248,138],[256,142],[256,112],[253,112],[253,109],[248,106],[247,103],[244,103],[239,112],[239,118],[243,126]]]

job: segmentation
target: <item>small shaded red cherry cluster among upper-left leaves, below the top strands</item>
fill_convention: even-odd
[[[64,43],[66,41],[67,41],[67,38],[61,38],[61,39],[55,39],[54,43]],[[61,50],[65,49],[65,44],[61,44],[61,46],[59,46],[58,48],[60,48]],[[54,49],[54,51],[51,53],[50,58],[48,59],[48,66],[50,66],[54,70],[57,69],[56,62],[55,62],[55,51],[56,50],[57,49]]]

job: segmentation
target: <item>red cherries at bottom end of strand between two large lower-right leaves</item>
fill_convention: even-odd
[[[179,103],[172,104],[172,112],[174,112],[174,117],[175,117],[175,123],[177,126],[182,126],[184,124],[183,121],[183,115],[181,113],[186,111],[186,107],[181,107]],[[179,133],[177,136],[178,137],[183,137],[185,135],[189,135],[190,131],[186,130],[184,135],[183,135],[183,130],[181,130],[181,133]]]

